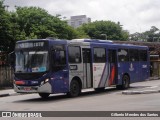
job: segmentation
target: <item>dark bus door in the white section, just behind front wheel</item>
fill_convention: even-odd
[[[91,50],[83,48],[83,88],[93,87],[92,82],[92,63],[91,63]]]

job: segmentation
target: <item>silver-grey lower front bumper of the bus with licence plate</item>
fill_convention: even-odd
[[[17,93],[52,93],[52,87],[48,82],[42,86],[18,86],[14,84],[14,91]]]

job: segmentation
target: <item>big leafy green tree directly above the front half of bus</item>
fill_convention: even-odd
[[[27,39],[55,37],[72,39],[75,30],[61,21],[59,16],[52,16],[39,7],[17,7],[17,22],[20,31],[24,31]]]

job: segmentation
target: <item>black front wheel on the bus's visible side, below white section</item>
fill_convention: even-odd
[[[67,95],[70,97],[76,97],[81,93],[82,82],[79,77],[74,77],[70,82],[69,92]]]

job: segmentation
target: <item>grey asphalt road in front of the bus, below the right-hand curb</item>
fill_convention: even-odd
[[[159,83],[153,81],[153,85]],[[149,84],[142,82],[130,90],[148,88]],[[42,100],[38,94],[1,97],[0,111],[160,111],[159,101],[159,93],[124,95],[122,90],[111,88],[104,92],[84,92],[76,98],[68,98],[64,94],[51,95],[47,100]]]

